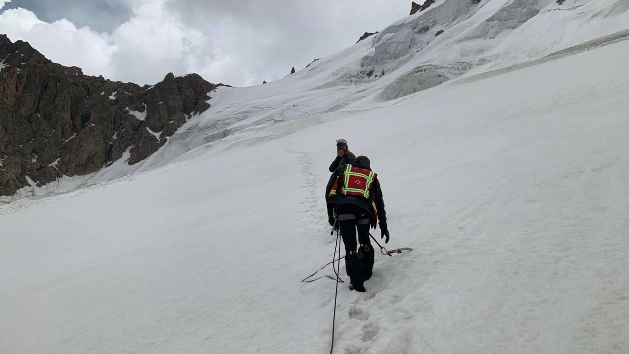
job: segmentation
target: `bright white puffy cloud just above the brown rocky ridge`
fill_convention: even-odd
[[[79,66],[85,74],[155,83],[170,71],[194,72],[199,57],[211,57],[204,52],[209,42],[203,34],[169,16],[164,3],[136,1],[134,16],[111,35],[77,28],[65,18],[47,23],[28,9],[7,9],[0,14],[0,33],[30,43],[53,62]]]

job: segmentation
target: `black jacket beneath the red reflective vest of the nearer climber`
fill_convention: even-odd
[[[352,166],[357,168],[366,168],[371,170],[362,161],[354,161],[351,163]],[[330,190],[332,189],[332,185],[334,185],[334,181],[337,180],[338,176],[340,176],[345,170],[345,165],[338,166],[338,168],[334,171],[334,173],[330,176],[330,180],[328,181],[328,185],[325,188],[325,198],[328,202],[328,219],[332,219],[333,209],[335,205],[340,204],[354,204],[358,205],[363,210],[369,212],[369,219],[372,227],[376,228],[376,220],[375,215],[372,212],[371,201],[367,200],[364,197],[359,197],[355,195],[343,195],[343,193],[338,193],[336,197],[332,197],[328,200],[328,195],[330,195]],[[374,192],[374,196],[376,200],[376,210],[378,212],[378,221],[380,222],[380,229],[382,231],[387,230],[387,214],[384,211],[384,200],[382,200],[382,190],[380,189],[380,182],[378,178],[374,179],[374,183],[371,185],[372,191]]]

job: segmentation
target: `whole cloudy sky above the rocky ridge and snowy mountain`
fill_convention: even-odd
[[[85,74],[260,84],[408,15],[409,0],[0,0],[0,33]]]

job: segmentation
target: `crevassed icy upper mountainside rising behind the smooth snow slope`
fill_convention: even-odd
[[[286,134],[335,119],[339,110],[369,109],[454,79],[485,77],[625,40],[628,7],[624,0],[561,5],[554,0],[439,0],[279,81],[219,88],[211,93],[211,110],[167,137],[165,147],[145,161],[128,166],[123,156],[97,173],[64,176],[0,200],[143,173],[216,140],[238,140],[243,130],[275,134],[281,126]],[[266,127],[272,127],[270,132]]]

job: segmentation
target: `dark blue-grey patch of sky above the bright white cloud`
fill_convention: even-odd
[[[127,0],[11,0],[4,8],[29,9],[46,22],[67,18],[77,27],[89,26],[99,33],[111,33],[132,14]]]

